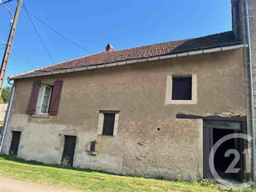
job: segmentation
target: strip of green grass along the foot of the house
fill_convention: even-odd
[[[0,176],[88,192],[224,191],[220,185],[214,185],[210,182],[188,183],[153,178],[118,176],[92,170],[65,168],[58,165],[44,165],[39,162],[25,161],[6,155],[0,155]],[[245,190],[243,192],[252,192],[254,188],[247,188]]]

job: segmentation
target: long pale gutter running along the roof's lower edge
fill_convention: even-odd
[[[101,64],[101,65],[84,66],[84,67],[71,68],[71,69],[60,69],[60,70],[55,70],[55,71],[42,72],[42,73],[38,73],[38,74],[23,74],[23,75],[20,74],[20,75],[16,75],[16,76],[15,75],[10,76],[10,77],[8,77],[8,79],[15,80],[15,79],[24,79],[24,78],[31,78],[31,77],[49,76],[49,75],[55,75],[55,74],[73,73],[75,71],[86,71],[86,70],[91,70],[91,69],[108,68],[108,67],[112,67],[112,66],[128,65],[128,64],[148,62],[148,61],[161,60],[161,59],[185,57],[185,56],[190,56],[190,55],[200,55],[200,54],[206,54],[206,53],[215,53],[215,52],[235,50],[235,49],[245,48],[245,47],[248,47],[248,45],[247,44],[239,44],[239,45],[234,45],[234,46],[225,46],[222,48],[203,49],[203,50],[197,50],[197,51],[191,51],[191,52],[162,55],[162,56],[149,57],[149,58],[143,58],[143,59],[126,60],[126,61],[122,61],[122,62],[107,63],[107,64]]]

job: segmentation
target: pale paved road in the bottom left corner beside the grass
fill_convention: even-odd
[[[0,177],[0,191],[1,192],[74,192],[72,190],[65,190],[51,186],[39,185],[37,183],[30,183],[26,181],[19,181]]]

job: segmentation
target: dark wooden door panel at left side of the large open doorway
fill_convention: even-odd
[[[209,155],[213,147],[213,128],[203,128],[203,177],[213,178],[210,171]]]

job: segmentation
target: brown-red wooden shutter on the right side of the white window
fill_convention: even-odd
[[[60,94],[62,91],[62,83],[63,83],[62,80],[57,80],[54,82],[52,99],[50,102],[50,109],[49,109],[50,115],[57,115],[58,113]]]

